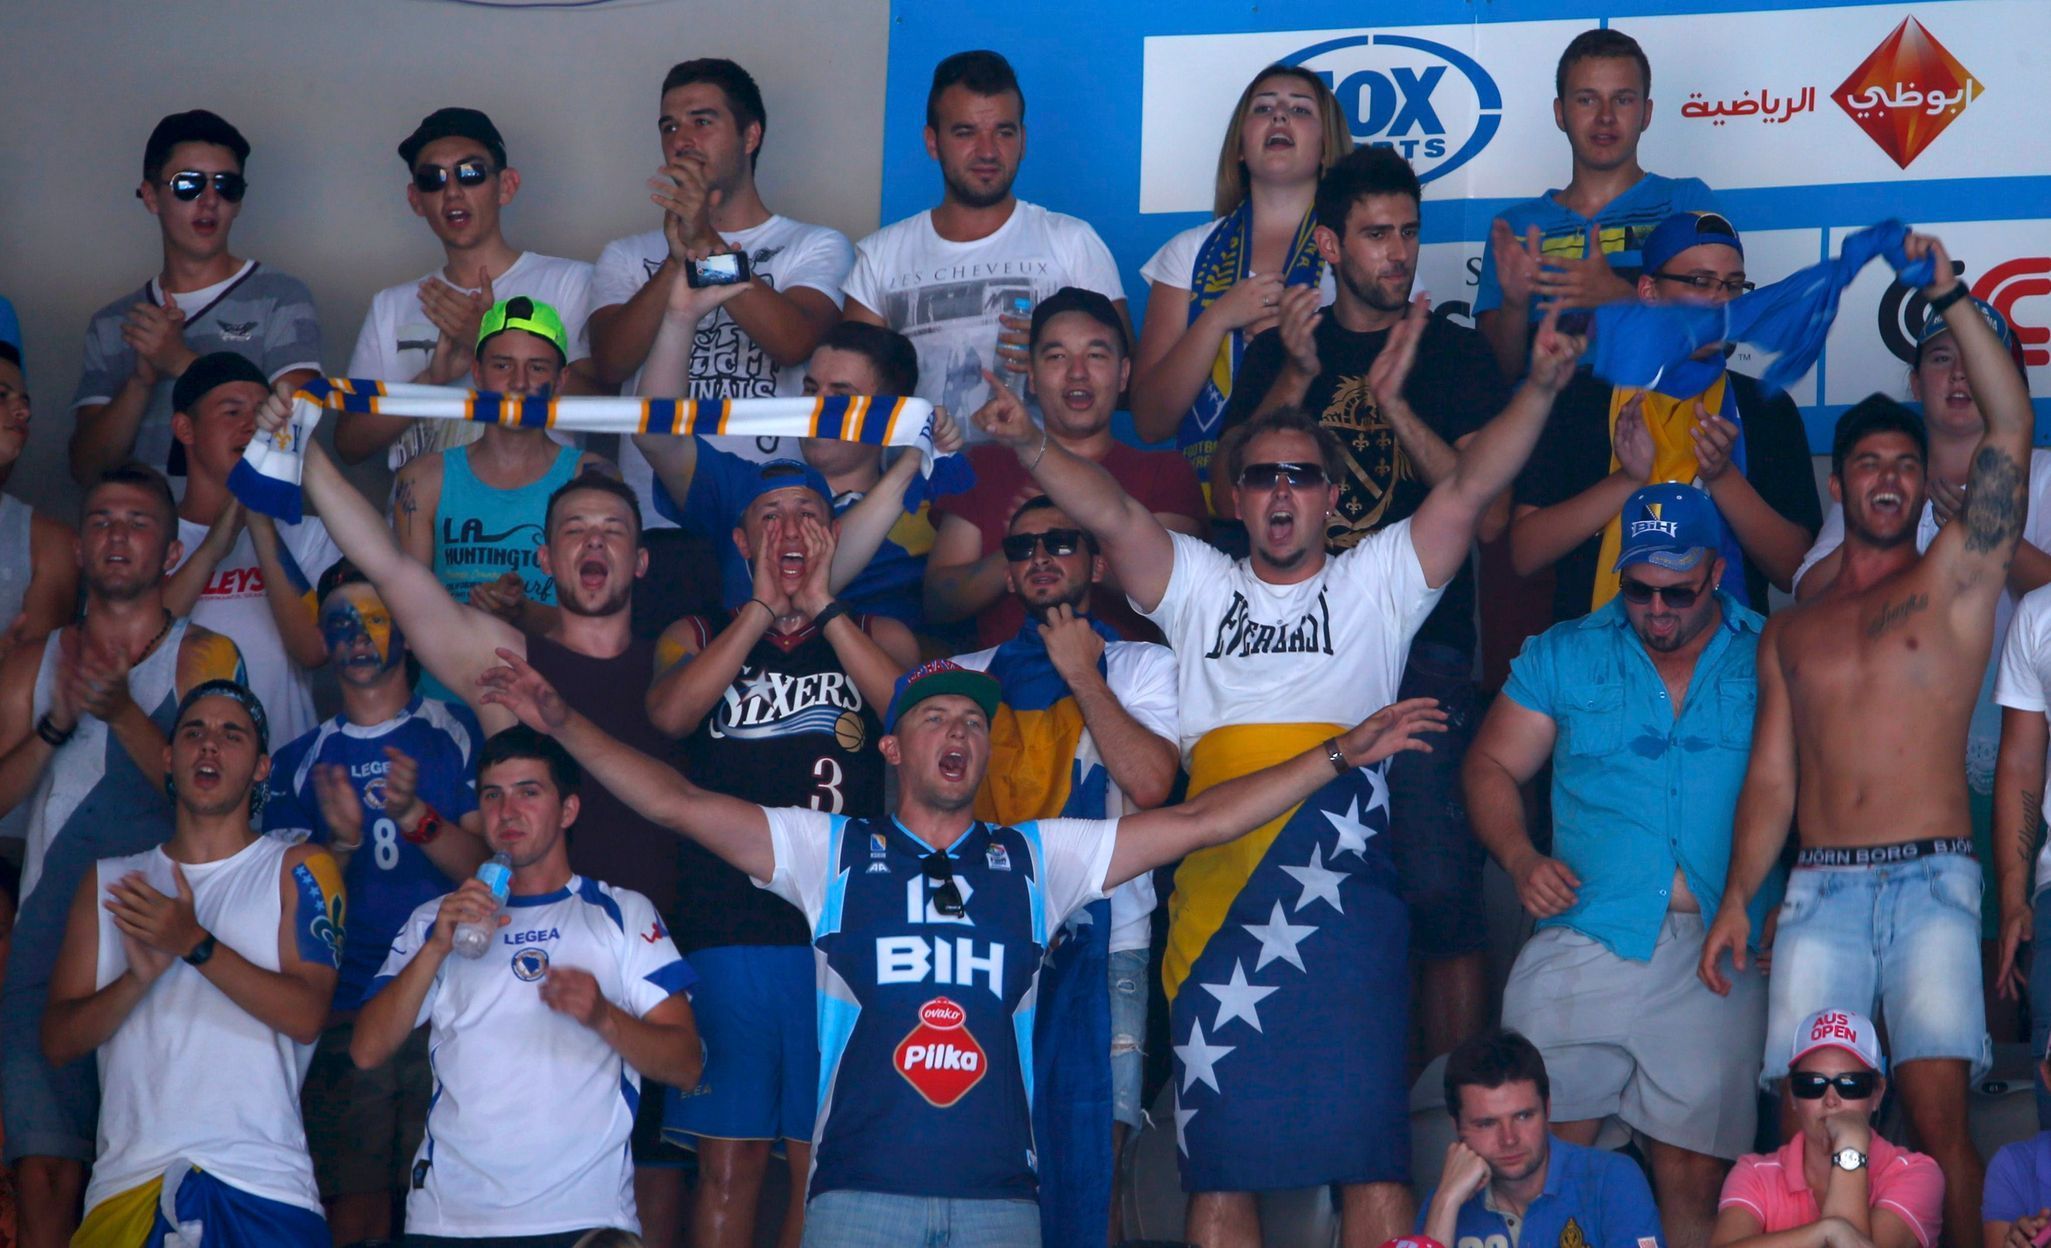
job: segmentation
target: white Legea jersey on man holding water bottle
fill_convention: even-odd
[[[414,1158],[406,1230],[546,1236],[640,1230],[628,1137],[640,1074],[589,1026],[541,1004],[550,967],[576,967],[640,1018],[697,981],[646,897],[585,876],[509,899],[482,959],[451,954],[420,1002],[435,1100]],[[375,996],[427,944],[441,899],[412,911]],[[425,1172],[423,1172],[425,1166]]]

